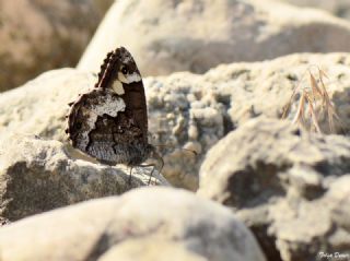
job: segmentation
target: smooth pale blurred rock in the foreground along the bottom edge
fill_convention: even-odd
[[[165,188],[132,190],[4,226],[0,250],[2,261],[266,260],[230,210]]]

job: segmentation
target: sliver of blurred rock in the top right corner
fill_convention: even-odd
[[[281,0],[299,7],[319,8],[331,12],[334,15],[350,19],[350,2],[348,0]]]

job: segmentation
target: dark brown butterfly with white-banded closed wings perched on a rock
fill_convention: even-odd
[[[107,165],[163,168],[148,143],[148,112],[140,71],[130,52],[119,47],[107,54],[94,88],[70,104],[66,132],[73,147]],[[141,165],[147,159],[158,164]]]

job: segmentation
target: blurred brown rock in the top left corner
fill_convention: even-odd
[[[0,92],[74,66],[102,16],[93,0],[1,0]]]

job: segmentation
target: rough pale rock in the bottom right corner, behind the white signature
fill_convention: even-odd
[[[349,167],[348,167],[349,169]],[[272,205],[271,233],[282,260],[324,259],[332,253],[350,257],[350,175],[329,185],[315,201],[289,199]]]

